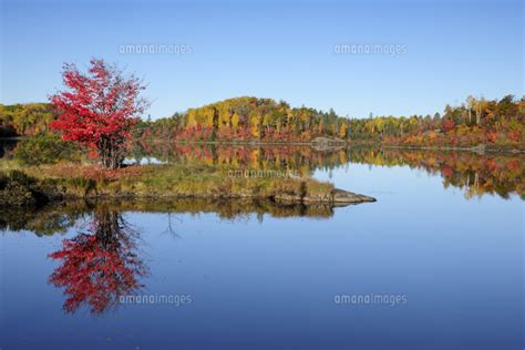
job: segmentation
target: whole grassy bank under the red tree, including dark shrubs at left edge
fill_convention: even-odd
[[[22,166],[2,162],[4,204],[30,204],[16,200],[42,193],[50,198],[260,198],[276,202],[319,202],[333,199],[334,187],[328,183],[299,177],[231,176],[225,166],[204,164],[134,165],[107,171],[96,165],[61,163]],[[14,174],[14,175],[13,175]],[[21,174],[25,174],[24,177]],[[7,179],[6,179],[7,178]],[[24,187],[27,187],[24,191]]]

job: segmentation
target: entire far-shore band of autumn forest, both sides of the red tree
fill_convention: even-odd
[[[47,133],[58,114],[48,103],[0,104],[0,137]],[[318,136],[395,145],[525,145],[525,99],[470,96],[434,115],[342,117],[284,101],[236,97],[158,120],[138,120],[135,138],[310,142]]]

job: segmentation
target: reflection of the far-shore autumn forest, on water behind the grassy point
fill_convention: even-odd
[[[348,146],[318,150],[299,145],[215,145],[215,144],[136,144],[133,158],[163,163],[199,162],[228,165],[240,169],[274,169],[312,175],[348,164],[370,166],[409,166],[443,178],[443,187],[456,187],[465,198],[495,194],[502,198],[517,194],[525,198],[524,153],[476,153]],[[337,185],[337,184],[336,184]]]

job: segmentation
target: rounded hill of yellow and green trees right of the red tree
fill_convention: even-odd
[[[347,120],[333,111],[290,107],[284,101],[236,97],[150,124],[150,135],[178,140],[225,141],[264,140],[276,142],[310,141],[316,136],[348,136]]]

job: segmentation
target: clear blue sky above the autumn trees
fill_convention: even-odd
[[[45,101],[92,56],[148,82],[152,117],[255,95],[341,115],[428,114],[523,95],[523,1],[9,1],[1,103]],[[189,54],[121,53],[191,45]],[[404,45],[337,54],[334,45]]]

